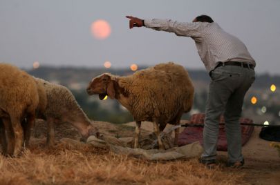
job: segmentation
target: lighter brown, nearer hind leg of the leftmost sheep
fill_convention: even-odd
[[[21,122],[19,117],[11,117],[12,123],[12,133],[14,134],[14,147],[12,148],[12,153],[8,153],[14,156],[19,155],[21,151],[22,144],[24,143],[23,130],[21,128]]]

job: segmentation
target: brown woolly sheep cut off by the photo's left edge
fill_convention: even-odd
[[[0,71],[1,145],[3,153],[17,156],[24,139],[21,122],[26,119],[27,128],[34,124],[39,95],[34,79],[23,70],[0,64]]]

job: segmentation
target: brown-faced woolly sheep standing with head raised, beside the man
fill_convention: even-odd
[[[134,148],[138,148],[141,121],[152,121],[160,149],[164,149],[160,132],[167,123],[180,124],[183,113],[191,110],[194,86],[187,70],[169,62],[158,64],[133,75],[119,77],[104,73],[91,80],[88,95],[108,95],[127,108],[136,121]],[[178,142],[179,128],[175,130],[174,144]]]

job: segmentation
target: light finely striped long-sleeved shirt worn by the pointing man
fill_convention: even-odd
[[[198,55],[208,72],[213,70],[219,61],[240,61],[256,66],[244,43],[225,32],[218,23],[180,23],[164,19],[145,19],[144,26],[194,39]]]

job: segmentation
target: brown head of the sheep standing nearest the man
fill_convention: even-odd
[[[104,73],[98,77],[95,77],[88,84],[86,91],[88,95],[99,95],[99,99],[104,99],[108,95],[111,99],[115,98],[115,88],[114,88],[113,76]]]

